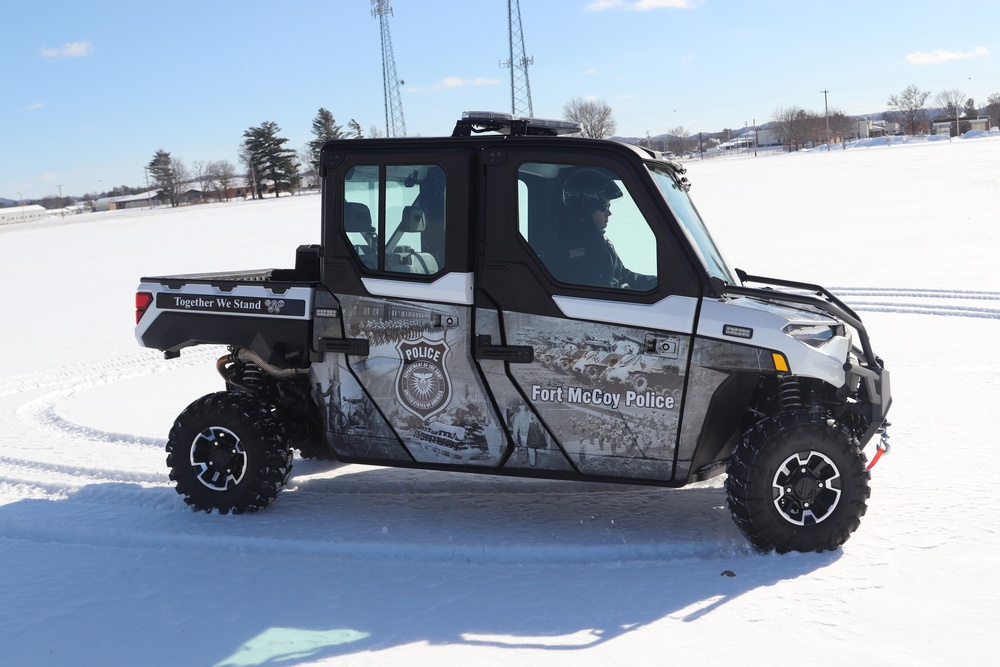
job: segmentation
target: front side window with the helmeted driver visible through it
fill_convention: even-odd
[[[521,165],[518,229],[560,282],[639,291],[657,285],[656,236],[610,169]]]

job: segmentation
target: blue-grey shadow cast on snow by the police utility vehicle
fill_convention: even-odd
[[[0,507],[0,538],[26,553],[0,565],[18,568],[11,592],[25,604],[78,608],[38,630],[63,646],[97,635],[120,652],[101,654],[111,662],[249,666],[414,644],[483,647],[498,660],[510,649],[579,651],[663,619],[694,621],[840,557],[757,555],[718,486],[360,467],[311,477],[325,465],[297,463],[300,477],[253,515],[190,512],[170,489],[120,483],[15,502]],[[60,545],[65,569],[51,562]],[[23,588],[32,581],[44,583]]]

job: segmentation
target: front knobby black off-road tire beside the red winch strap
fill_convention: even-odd
[[[765,419],[729,462],[733,521],[759,551],[836,549],[868,509],[865,464],[839,425],[808,412]]]

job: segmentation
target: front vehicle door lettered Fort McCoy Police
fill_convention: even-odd
[[[544,433],[506,465],[669,481],[699,282],[641,165],[558,141],[484,151],[478,357],[515,444]]]

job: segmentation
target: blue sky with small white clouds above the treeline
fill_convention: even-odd
[[[408,134],[510,111],[507,2],[392,0]],[[1000,92],[1000,3],[521,0],[536,116],[606,101],[618,134],[742,128],[780,107],[876,112],[909,84]],[[370,0],[32,0],[3,9],[0,197],[143,183],[158,149],[239,166],[242,133],[289,146],[320,107],[384,131]]]

